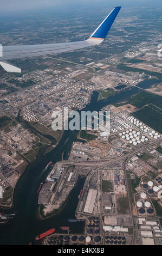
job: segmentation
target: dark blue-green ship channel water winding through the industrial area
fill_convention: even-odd
[[[157,80],[152,81],[152,84],[157,83]],[[146,88],[146,82],[143,82]],[[140,86],[142,84],[140,83]],[[150,87],[150,83],[148,87]],[[129,87],[121,90],[116,95],[107,97],[98,101],[98,92],[92,94],[89,104],[82,110],[84,111],[100,111],[101,108],[112,104],[125,102],[131,99],[133,95],[138,94],[142,89],[137,87]],[[37,205],[37,188],[44,181],[49,173],[49,170],[44,170],[47,163],[52,161],[56,163],[61,161],[62,153],[64,159],[67,159],[68,154],[74,141],[77,141],[77,131],[64,131],[59,144],[44,155],[47,147],[40,150],[37,159],[29,164],[25,172],[18,180],[14,191],[14,207],[3,212],[16,211],[17,215],[13,222],[9,225],[1,225],[0,227],[0,244],[1,245],[28,245],[29,242],[35,240],[35,236],[43,233],[51,228],[59,229],[61,226],[70,226],[73,234],[81,234],[84,231],[84,222],[68,222],[69,218],[75,218],[75,209],[78,203],[78,195],[83,187],[85,178],[79,177],[76,186],[70,192],[66,204],[63,209],[54,216],[49,218],[38,218]],[[59,231],[61,231],[59,229]]]

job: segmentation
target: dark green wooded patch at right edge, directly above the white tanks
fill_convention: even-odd
[[[161,98],[162,99],[162,98]],[[162,102],[162,100],[161,100]],[[150,126],[155,131],[162,133],[162,119],[160,109],[155,109],[151,106],[146,106],[137,112],[134,112],[134,117],[141,120],[146,125]]]

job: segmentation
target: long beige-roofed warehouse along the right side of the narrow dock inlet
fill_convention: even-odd
[[[93,213],[97,193],[98,193],[97,190],[94,190],[92,188],[89,189],[84,212],[88,212],[88,214]]]

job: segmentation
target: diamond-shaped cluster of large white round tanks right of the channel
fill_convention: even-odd
[[[126,130],[124,132],[120,132],[119,136],[122,139],[126,139],[126,141],[129,141],[129,143],[133,145],[140,144],[141,142],[148,141],[148,138],[145,135],[141,136],[140,132],[137,132],[133,129]]]

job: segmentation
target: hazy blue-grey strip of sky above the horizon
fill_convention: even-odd
[[[126,5],[135,5],[138,3],[155,3],[160,2],[160,0],[0,0],[0,14],[13,13],[16,11],[28,11],[34,9],[42,8],[58,8],[66,7],[70,8],[72,5],[90,5],[90,4],[105,4],[107,6],[126,6]]]

